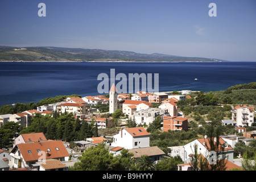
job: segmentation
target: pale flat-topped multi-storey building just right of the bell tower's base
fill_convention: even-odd
[[[146,125],[149,125],[156,119],[156,117],[160,116],[160,119],[162,120],[163,117],[168,116],[169,113],[167,109],[148,108],[135,111],[133,115],[137,125],[144,125],[144,123],[146,123]]]

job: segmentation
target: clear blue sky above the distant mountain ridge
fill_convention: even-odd
[[[46,17],[38,4],[46,4]],[[210,17],[210,3],[217,16]],[[1,0],[0,46],[256,61],[255,0]]]

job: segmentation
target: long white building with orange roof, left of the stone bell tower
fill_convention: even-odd
[[[86,105],[77,103],[64,103],[58,107],[61,113],[86,114]]]

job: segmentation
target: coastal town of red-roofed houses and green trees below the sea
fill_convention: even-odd
[[[0,171],[255,169],[254,107],[218,105],[211,94],[118,94],[113,84],[107,95],[2,114]],[[209,96],[219,113],[186,110]]]

